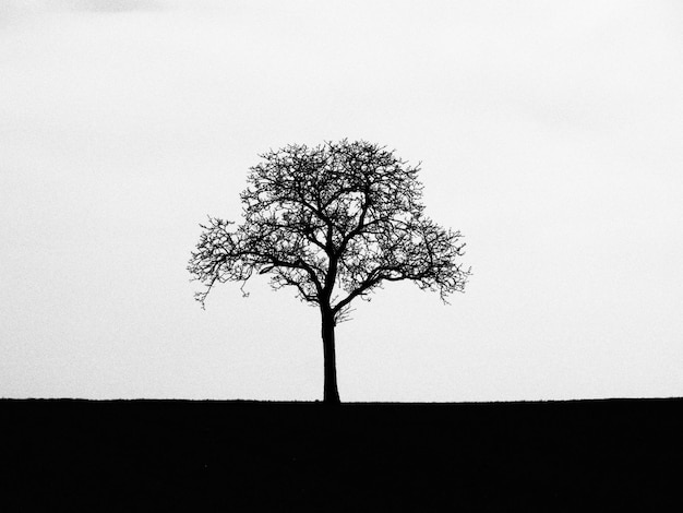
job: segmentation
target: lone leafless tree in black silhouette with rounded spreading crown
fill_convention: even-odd
[[[335,326],[356,298],[383,282],[410,279],[446,296],[464,291],[459,231],[423,215],[418,166],[366,141],[291,144],[260,155],[240,194],[243,223],[208,217],[188,270],[205,288],[271,274],[271,286],[296,287],[321,313],[324,402],[338,403]],[[242,293],[244,293],[242,288]],[[343,297],[339,297],[339,294]]]

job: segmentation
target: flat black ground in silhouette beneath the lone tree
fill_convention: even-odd
[[[681,511],[681,414],[682,399],[3,399],[0,510]]]

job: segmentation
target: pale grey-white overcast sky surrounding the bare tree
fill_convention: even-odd
[[[683,395],[676,1],[0,0],[0,397],[315,401],[319,312],[185,270],[259,154],[421,162],[472,276],[337,326],[343,402]]]

